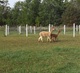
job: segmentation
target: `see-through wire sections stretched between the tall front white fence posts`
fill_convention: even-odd
[[[28,26],[27,27],[28,34],[38,34],[41,31],[49,31],[49,26],[46,27],[35,27],[35,26]],[[8,26],[8,35],[26,35],[26,26]],[[57,26],[52,33],[57,33],[58,30],[61,30],[61,34],[63,35],[73,35],[73,26]],[[0,36],[5,35],[5,26],[0,26]],[[80,26],[76,26],[75,28],[76,35],[80,34]]]

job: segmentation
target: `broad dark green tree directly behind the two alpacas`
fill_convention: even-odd
[[[41,24],[60,25],[63,11],[63,0],[43,0],[39,11]]]

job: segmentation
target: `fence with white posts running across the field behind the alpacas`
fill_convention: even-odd
[[[20,35],[25,34],[26,36],[28,36],[28,34],[37,34],[40,31],[49,31],[50,27],[51,27],[50,24],[47,27],[28,26],[28,24],[26,24],[26,26],[15,26],[15,27],[5,25],[5,31],[0,30],[0,32],[1,33],[3,32],[3,34],[5,33],[5,36],[12,35],[12,34],[15,35],[15,33]],[[80,25],[76,26],[75,24],[73,24],[73,27],[67,27],[66,25],[64,25],[63,27],[64,28],[62,28],[62,26],[56,27],[58,30],[62,28],[61,34],[64,34],[64,35],[69,34],[69,35],[72,35],[73,37],[75,37],[77,34],[80,34]],[[53,33],[57,33],[58,30],[54,30]]]

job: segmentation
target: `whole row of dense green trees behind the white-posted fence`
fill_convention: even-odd
[[[0,0],[0,25],[55,26],[80,24],[80,0],[25,0],[14,7]]]

